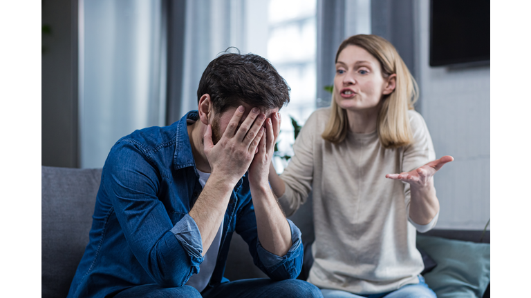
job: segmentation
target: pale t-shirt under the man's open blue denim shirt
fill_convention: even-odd
[[[201,183],[201,187],[204,188],[210,174],[201,172],[200,170],[197,170],[197,172],[199,174],[199,183]],[[214,272],[214,267],[216,267],[219,246],[221,245],[221,230],[223,230],[223,220],[221,221],[221,226],[219,226],[216,237],[214,237],[214,241],[212,241],[212,244],[203,256],[203,263],[199,265],[199,272],[196,275],[192,275],[186,283],[187,286],[192,286],[199,292],[205,290],[208,281]]]

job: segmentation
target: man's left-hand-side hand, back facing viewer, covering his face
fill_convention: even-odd
[[[253,108],[238,128],[244,112],[243,106],[236,109],[216,146],[212,143],[212,126],[207,126],[203,138],[212,176],[223,177],[233,185],[248,170],[265,131],[262,128],[265,115],[258,108]]]

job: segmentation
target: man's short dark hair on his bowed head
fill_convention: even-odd
[[[282,108],[290,102],[290,87],[268,60],[257,54],[222,54],[212,60],[199,81],[197,101],[209,94],[214,112],[243,101],[258,108]]]

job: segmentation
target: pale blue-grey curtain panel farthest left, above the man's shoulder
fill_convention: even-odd
[[[120,137],[164,125],[165,30],[161,0],[80,1],[82,168],[101,168]]]

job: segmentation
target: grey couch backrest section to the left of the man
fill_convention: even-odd
[[[42,297],[66,297],[88,244],[101,169],[41,170]]]

